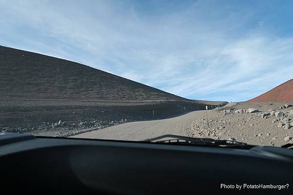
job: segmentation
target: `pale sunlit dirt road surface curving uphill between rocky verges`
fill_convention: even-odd
[[[119,124],[75,135],[71,138],[141,141],[165,134],[188,136],[188,125],[205,113],[205,110],[199,110],[169,119]]]

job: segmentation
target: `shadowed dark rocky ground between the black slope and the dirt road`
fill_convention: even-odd
[[[132,121],[170,118],[204,107],[198,101],[176,100],[0,99],[0,132],[69,137]]]

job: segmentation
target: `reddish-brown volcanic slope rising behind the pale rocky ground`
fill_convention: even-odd
[[[293,79],[247,102],[293,102]]]

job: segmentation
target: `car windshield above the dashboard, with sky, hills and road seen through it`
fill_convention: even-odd
[[[293,143],[292,6],[0,1],[0,132]]]

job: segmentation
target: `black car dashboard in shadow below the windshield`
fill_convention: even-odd
[[[10,194],[288,195],[293,187],[293,150],[2,133],[0,174],[1,190]],[[276,185],[283,188],[273,188]]]

